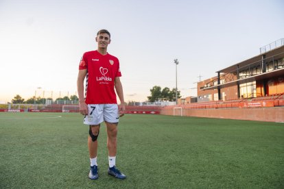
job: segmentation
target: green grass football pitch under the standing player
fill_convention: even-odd
[[[0,113],[0,188],[284,188],[284,123],[126,114],[108,175],[88,179],[88,126],[75,113]]]

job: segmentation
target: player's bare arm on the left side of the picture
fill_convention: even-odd
[[[77,79],[77,90],[79,96],[80,113],[82,115],[88,115],[88,106],[84,99],[84,79],[86,77],[87,70],[79,70]]]

